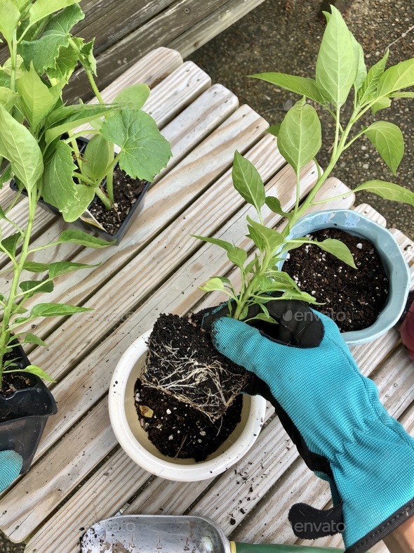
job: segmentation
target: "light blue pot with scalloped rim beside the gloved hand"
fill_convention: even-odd
[[[387,303],[375,323],[363,330],[342,333],[348,346],[356,346],[385,334],[399,320],[410,289],[410,269],[389,230],[351,209],[336,209],[305,215],[293,226],[288,238],[300,238],[316,230],[333,227],[370,240],[380,255],[389,279]]]

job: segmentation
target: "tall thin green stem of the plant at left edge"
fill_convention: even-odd
[[[34,214],[36,212],[36,186],[29,188],[27,187],[27,198],[29,200],[29,220],[27,221],[27,228],[24,233],[22,251],[20,252],[19,261],[15,266],[13,272],[13,282],[11,284],[11,290],[8,294],[8,300],[4,308],[3,321],[1,323],[1,332],[0,332],[0,389],[3,383],[3,371],[4,364],[3,358],[6,346],[10,340],[10,319],[13,311],[13,306],[15,304],[15,299],[17,297],[18,285],[20,282],[20,276],[25,266],[27,255],[29,254],[29,243],[32,235],[32,228],[34,223]]]

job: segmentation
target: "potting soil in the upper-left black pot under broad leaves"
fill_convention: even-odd
[[[114,207],[107,211],[98,196],[95,196],[89,206],[89,211],[107,233],[114,235],[125,221],[140,193],[144,190],[145,184],[146,181],[131,178],[125,171],[116,166],[114,170]]]

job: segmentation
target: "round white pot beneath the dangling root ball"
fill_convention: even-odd
[[[173,481],[197,481],[218,476],[238,461],[255,443],[265,419],[266,401],[244,396],[241,422],[206,461],[194,462],[162,455],[142,429],[134,405],[134,384],[147,354],[151,331],[136,339],[116,365],[109,387],[109,417],[116,439],[131,459],[143,469]]]

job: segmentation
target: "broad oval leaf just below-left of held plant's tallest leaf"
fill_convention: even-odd
[[[277,145],[281,155],[295,172],[309,163],[322,143],[321,122],[312,105],[305,99],[295,103],[281,123]]]

